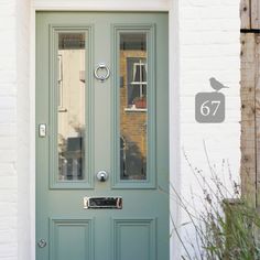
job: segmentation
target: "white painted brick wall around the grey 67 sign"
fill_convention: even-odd
[[[187,161],[193,167],[201,169],[203,177],[209,180],[212,173],[206,147],[209,163],[229,188],[229,171],[231,178],[237,181],[239,176],[239,0],[182,0],[178,3],[181,191],[187,202],[194,202],[199,209],[199,205],[203,205],[196,196],[203,198],[204,194]],[[195,95],[214,91],[209,84],[210,77],[229,87],[221,90],[226,96],[226,120],[223,123],[195,121]],[[187,220],[183,213],[181,223]],[[183,238],[196,243],[192,227],[187,225],[186,229],[188,235],[183,230]],[[189,250],[193,253],[194,250]]]

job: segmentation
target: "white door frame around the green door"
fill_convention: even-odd
[[[35,18],[37,11],[151,11],[151,12],[167,12],[169,13],[169,140],[170,140],[170,182],[174,184],[175,191],[180,192],[181,189],[181,172],[180,169],[180,43],[178,43],[178,0],[154,0],[147,1],[143,6],[138,6],[134,1],[124,0],[111,0],[109,3],[107,1],[99,1],[95,3],[93,0],[87,0],[83,2],[76,0],[73,4],[68,4],[68,1],[61,0],[34,0],[31,4],[31,18],[30,18],[30,129],[31,129],[31,144],[30,144],[30,154],[31,154],[31,174],[30,174],[30,217],[31,217],[31,259],[35,260],[35,73],[36,73],[36,63],[35,63]],[[171,192],[171,191],[170,191]],[[173,218],[176,227],[180,226],[180,206],[175,199],[170,199],[170,214]],[[172,223],[170,224],[169,234],[172,234],[170,238],[170,259],[175,260],[180,259],[181,246],[175,232],[173,232],[174,227]]]

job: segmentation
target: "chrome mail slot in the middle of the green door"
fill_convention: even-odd
[[[121,209],[122,208],[122,198],[121,197],[84,197],[84,208]]]

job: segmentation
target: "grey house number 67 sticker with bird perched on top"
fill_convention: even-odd
[[[223,93],[224,86],[216,78],[210,78],[213,93],[198,93],[195,97],[195,119],[201,123],[219,123],[225,120],[226,100]]]

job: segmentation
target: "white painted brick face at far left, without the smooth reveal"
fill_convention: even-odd
[[[0,259],[18,254],[15,0],[0,2]]]

